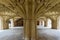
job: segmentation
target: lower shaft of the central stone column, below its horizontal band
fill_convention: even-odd
[[[25,34],[25,40],[36,40],[37,38],[37,29],[36,29],[36,23],[37,21],[35,19],[25,19],[24,20],[24,34]]]

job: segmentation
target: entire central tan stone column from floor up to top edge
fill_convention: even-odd
[[[25,0],[26,15],[24,18],[24,35],[25,40],[37,40],[37,23],[34,14],[35,0]]]

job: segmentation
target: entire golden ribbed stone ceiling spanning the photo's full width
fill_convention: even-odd
[[[60,0],[0,0],[0,15],[26,16],[60,15]]]

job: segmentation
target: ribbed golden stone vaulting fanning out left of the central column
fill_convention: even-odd
[[[22,1],[23,2],[23,1]],[[6,15],[16,16],[20,15],[23,16],[25,11],[23,5],[18,0],[0,0],[0,11],[6,12]],[[8,12],[8,13],[7,13]],[[3,14],[4,15],[4,14]]]

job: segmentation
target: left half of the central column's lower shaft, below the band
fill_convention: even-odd
[[[24,40],[31,40],[30,20],[24,19]]]

